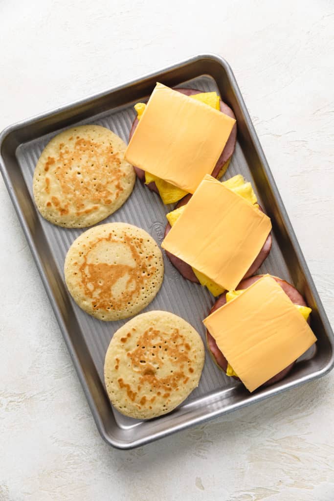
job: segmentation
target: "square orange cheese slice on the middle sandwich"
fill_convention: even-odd
[[[270,229],[268,216],[207,174],[161,246],[224,289],[233,290]]]

